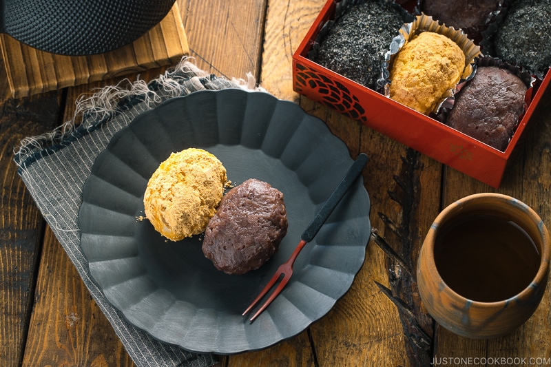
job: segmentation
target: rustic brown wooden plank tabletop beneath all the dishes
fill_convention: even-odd
[[[496,190],[292,91],[291,56],[325,0],[178,1],[198,67],[227,78],[247,78],[250,72],[271,94],[324,120],[353,158],[362,151],[370,156],[364,181],[374,233],[350,291],[300,335],[266,350],[220,357],[219,366],[429,366],[435,357],[439,365],[454,366],[471,366],[477,357],[505,362],[501,365],[530,366],[538,358],[551,363],[549,291],[511,335],[472,340],[433,322],[415,282],[430,223],[461,197],[506,193],[551,224],[551,90]],[[79,95],[116,81],[12,99],[1,66],[0,365],[133,366],[13,162],[22,138],[54,129],[71,118]]]

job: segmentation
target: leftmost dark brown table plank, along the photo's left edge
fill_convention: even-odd
[[[0,95],[9,95],[0,61]],[[4,90],[6,88],[6,90]],[[13,162],[25,136],[55,127],[61,98],[0,101],[0,364],[20,366],[34,297],[36,269],[45,223]]]

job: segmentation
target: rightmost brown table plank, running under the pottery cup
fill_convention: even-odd
[[[446,171],[446,192],[444,205],[471,193],[498,192],[525,202],[536,211],[543,222],[551,225],[549,193],[551,189],[551,88],[545,91],[541,104],[530,118],[530,129],[525,130],[526,142],[522,154],[512,161],[499,189],[460,174]],[[532,125],[533,124],[533,125]],[[543,300],[528,322],[510,335],[491,340],[472,340],[458,337],[438,326],[435,343],[437,361],[449,357],[534,357],[551,358],[549,348],[548,315],[551,313],[550,287]],[[461,362],[461,360],[459,360]],[[439,365],[443,365],[439,363]],[[455,365],[455,364],[454,364]],[[528,364],[521,364],[527,366]],[[467,366],[462,361],[457,366]]]

